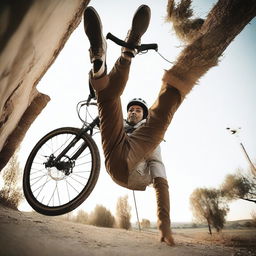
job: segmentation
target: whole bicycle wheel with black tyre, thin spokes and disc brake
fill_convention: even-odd
[[[31,207],[45,215],[74,210],[90,195],[99,177],[100,155],[86,133],[57,162],[50,166],[80,129],[64,127],[45,135],[31,151],[24,169],[23,190]],[[86,145],[86,146],[83,146]],[[83,147],[76,160],[72,156]]]

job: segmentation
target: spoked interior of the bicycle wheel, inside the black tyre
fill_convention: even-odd
[[[84,142],[80,139],[60,160],[65,168],[47,167],[75,137],[74,133],[61,133],[49,138],[35,153],[30,168],[29,188],[31,195],[42,206],[57,208],[75,200],[90,184],[93,159],[88,146],[76,161],[71,156]]]

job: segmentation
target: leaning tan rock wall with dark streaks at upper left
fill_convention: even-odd
[[[88,3],[0,1],[0,170],[50,100],[36,85],[80,23]]]

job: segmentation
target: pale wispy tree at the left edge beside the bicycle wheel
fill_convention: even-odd
[[[17,153],[15,153],[3,171],[4,185],[0,190],[0,203],[16,210],[23,198],[21,187],[19,186],[20,176],[21,168]]]

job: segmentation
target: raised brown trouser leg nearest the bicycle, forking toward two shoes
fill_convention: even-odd
[[[123,128],[120,96],[128,79],[130,63],[120,57],[109,75],[100,79],[92,77],[90,79],[93,88],[101,88],[101,84],[104,84],[104,89],[96,90],[96,94],[105,166],[114,181],[122,186],[125,186],[128,179],[128,169],[126,168],[128,147],[125,147],[127,135]]]

